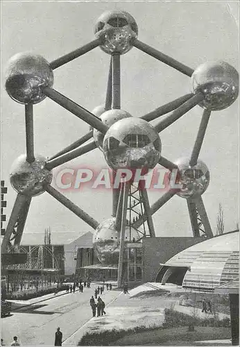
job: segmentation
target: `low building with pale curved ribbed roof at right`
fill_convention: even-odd
[[[156,282],[214,291],[239,278],[239,230],[207,239],[174,255],[160,268]]]

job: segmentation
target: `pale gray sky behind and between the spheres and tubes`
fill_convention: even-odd
[[[231,5],[231,4],[230,4]],[[135,17],[139,40],[196,68],[207,60],[225,60],[238,69],[239,46],[233,12],[223,1],[182,2],[1,2],[1,66],[15,53],[39,53],[51,62],[94,39],[94,24],[105,10],[122,9]],[[54,71],[53,87],[88,110],[105,101],[110,56],[97,48]],[[2,76],[4,85],[4,76]],[[133,48],[121,57],[121,108],[134,117],[191,91],[190,78]],[[197,106],[161,133],[162,155],[169,160],[189,156],[203,109]],[[45,99],[34,107],[35,152],[51,156],[88,131],[88,125]],[[12,162],[26,152],[24,105],[2,90],[1,179],[8,185],[8,217],[16,193],[10,187]],[[218,204],[225,214],[225,230],[234,230],[239,210],[239,102],[212,112],[200,159],[211,180],[203,201],[213,232]],[[95,150],[63,167],[107,167]],[[53,171],[55,172],[55,171]],[[111,192],[68,192],[65,195],[97,221],[111,216]],[[160,192],[151,192],[153,203]],[[8,218],[7,217],[7,218]],[[191,236],[187,201],[175,196],[154,215],[157,236]],[[33,198],[26,231],[91,230],[49,194]],[[93,231],[93,230],[92,230]]]

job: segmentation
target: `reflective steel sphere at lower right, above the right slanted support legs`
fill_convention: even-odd
[[[178,196],[182,198],[195,198],[202,195],[209,185],[210,174],[207,165],[198,160],[194,167],[190,167],[189,159],[180,158],[175,164],[178,165],[179,174],[177,182],[182,185]]]

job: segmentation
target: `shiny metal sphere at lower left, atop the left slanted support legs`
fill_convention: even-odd
[[[45,192],[46,185],[51,183],[53,174],[44,168],[46,158],[35,157],[34,162],[27,162],[22,154],[13,162],[10,170],[10,183],[19,194],[37,196]]]

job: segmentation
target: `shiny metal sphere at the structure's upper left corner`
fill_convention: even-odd
[[[53,86],[53,70],[42,56],[17,53],[8,61],[6,91],[18,103],[40,103],[41,87]]]

